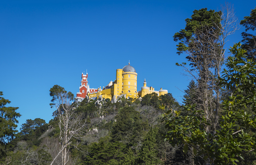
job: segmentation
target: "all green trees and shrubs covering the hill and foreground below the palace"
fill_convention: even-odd
[[[255,165],[255,20],[256,8],[240,22],[243,44],[228,58],[224,45],[239,23],[231,6],[194,10],[185,20],[174,35],[177,53],[190,63],[176,65],[193,78],[183,105],[170,93],[78,103],[54,85],[53,120],[29,119],[17,133],[18,107],[0,97],[0,164]]]

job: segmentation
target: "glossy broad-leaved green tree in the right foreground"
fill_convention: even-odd
[[[223,103],[227,115],[220,117],[220,129],[216,133],[205,130],[205,125],[210,123],[205,115],[199,115],[195,105],[186,106],[187,110],[193,109],[191,115],[180,115],[177,111],[163,115],[169,130],[165,140],[173,146],[183,145],[184,153],[193,148],[194,155],[202,156],[212,165],[236,165],[238,159],[244,159],[244,154],[256,149],[256,138],[248,129],[256,128],[256,62],[246,58],[246,51],[240,46],[235,44],[230,49],[234,57],[228,58],[228,70],[220,78],[221,84],[232,93]],[[250,107],[254,115],[248,114],[244,107]]]

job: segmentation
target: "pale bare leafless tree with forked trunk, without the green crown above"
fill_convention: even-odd
[[[66,165],[69,160],[68,151],[71,139],[86,135],[86,119],[75,113],[75,108],[65,93],[58,97],[56,106],[58,107],[61,148],[50,165],[61,153],[62,165]]]

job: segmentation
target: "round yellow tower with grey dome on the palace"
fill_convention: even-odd
[[[123,67],[122,72],[122,94],[127,98],[137,98],[137,73],[134,67],[128,65]]]

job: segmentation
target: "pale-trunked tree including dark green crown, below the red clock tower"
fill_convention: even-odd
[[[65,89],[59,85],[54,85],[50,88],[50,96],[53,97],[51,100],[53,103],[50,103],[50,106],[54,105],[57,108],[56,116],[59,119],[59,128],[60,128],[60,140],[61,148],[59,153],[53,159],[52,165],[55,159],[62,152],[62,165],[66,165],[69,157],[68,149],[71,144],[72,138],[79,138],[85,136],[85,127],[86,119],[83,119],[81,115],[78,115],[75,112],[74,104],[71,102],[74,98],[74,95],[71,92],[65,91]]]

